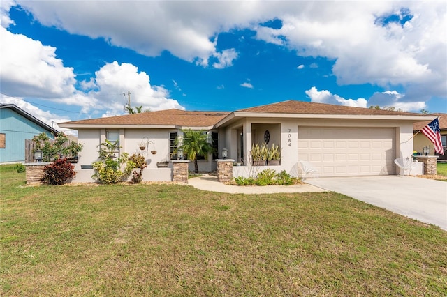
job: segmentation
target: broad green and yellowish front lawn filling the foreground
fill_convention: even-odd
[[[333,192],[0,190],[0,296],[447,295],[446,231]]]

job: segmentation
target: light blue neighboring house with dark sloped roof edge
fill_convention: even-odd
[[[54,139],[59,132],[13,105],[0,105],[0,163],[24,162],[25,139],[45,132]]]

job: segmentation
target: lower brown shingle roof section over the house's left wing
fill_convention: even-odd
[[[179,125],[182,127],[208,127],[223,119],[228,112],[187,112],[166,109],[124,116],[67,122],[70,125]],[[64,123],[62,123],[63,125]]]

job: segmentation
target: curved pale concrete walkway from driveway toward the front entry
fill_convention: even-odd
[[[199,176],[188,180],[189,185],[194,188],[221,193],[233,194],[272,194],[272,193],[302,193],[302,192],[327,192],[314,185],[307,183],[301,185],[267,185],[262,186],[240,186],[226,185],[217,181],[217,176]]]

